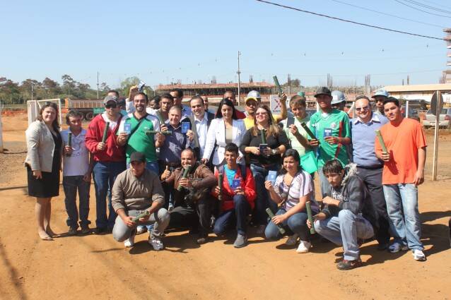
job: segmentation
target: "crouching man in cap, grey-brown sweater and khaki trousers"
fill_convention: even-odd
[[[130,155],[130,169],[116,178],[112,188],[112,206],[117,213],[113,238],[134,246],[136,226],[154,224],[148,237],[156,251],[163,249],[161,236],[168,227],[170,215],[163,208],[165,196],[158,174],[146,169],[146,157],[141,152]],[[136,217],[141,215],[138,220]]]

